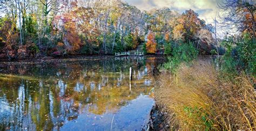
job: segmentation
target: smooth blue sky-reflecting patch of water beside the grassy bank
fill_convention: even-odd
[[[154,100],[140,95],[116,113],[95,115],[84,113],[77,120],[69,121],[61,130],[141,130],[149,122]],[[113,122],[112,122],[113,120]]]

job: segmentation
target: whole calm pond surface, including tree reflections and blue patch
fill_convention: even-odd
[[[154,104],[152,80],[162,61],[0,63],[0,130],[141,130]]]

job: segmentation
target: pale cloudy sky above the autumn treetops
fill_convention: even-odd
[[[193,9],[199,14],[199,18],[213,24],[213,18],[217,11],[216,0],[125,0],[130,5],[137,6],[140,10],[154,8],[170,8],[180,13]]]

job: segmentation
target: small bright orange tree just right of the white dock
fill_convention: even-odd
[[[147,53],[156,53],[157,43],[155,40],[155,36],[152,32],[147,36],[146,50]]]

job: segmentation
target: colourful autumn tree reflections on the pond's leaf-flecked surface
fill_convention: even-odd
[[[129,67],[134,69],[131,91]],[[0,129],[50,130],[83,112],[114,113],[138,95],[149,94],[152,86],[145,81],[151,79],[151,67],[152,60],[105,59],[63,63],[57,68],[26,67],[19,72],[23,76],[0,76]],[[19,66],[7,68],[20,70]]]

